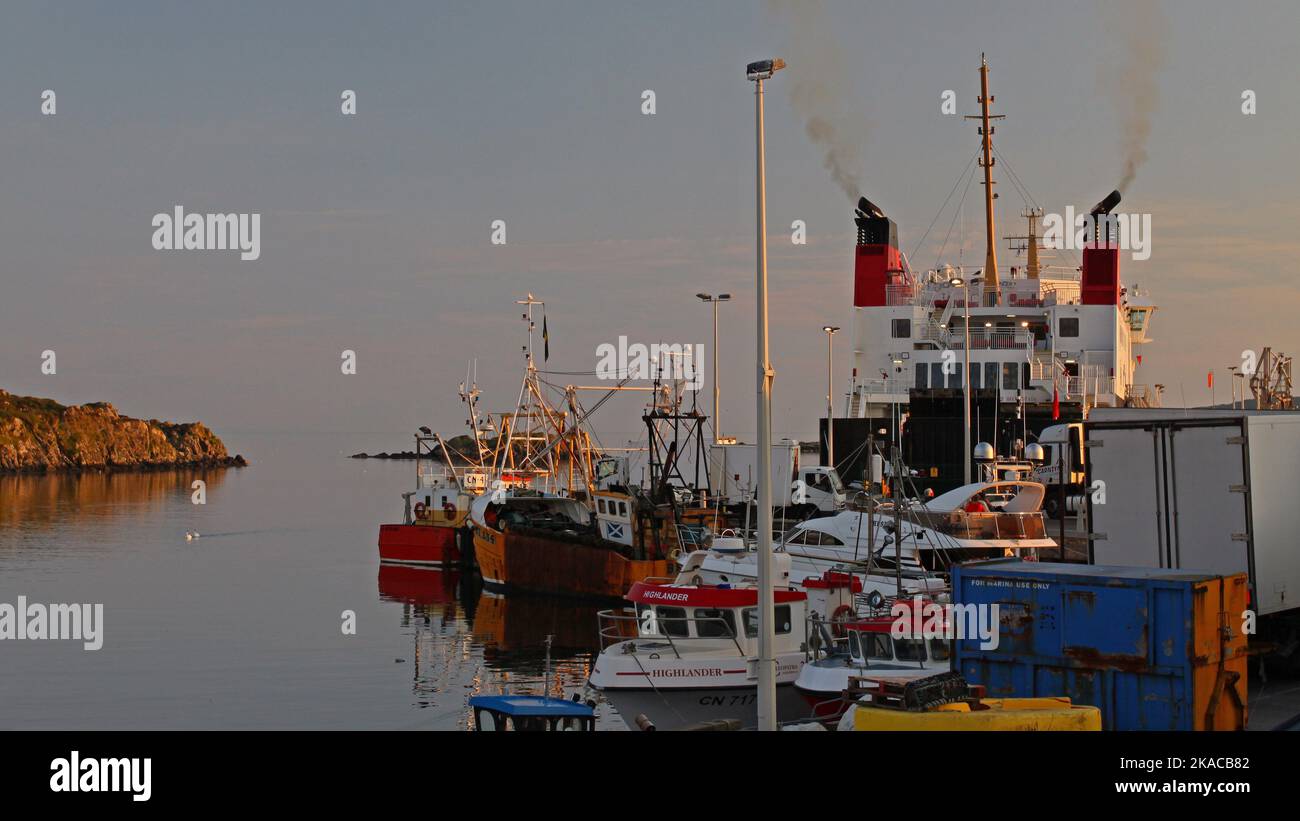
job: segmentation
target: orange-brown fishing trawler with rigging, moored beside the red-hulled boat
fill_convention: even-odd
[[[529,295],[523,304],[532,327],[532,305],[541,303]],[[627,459],[606,456],[593,444],[585,426],[590,414],[577,400],[577,392],[586,388],[564,386],[567,410],[555,408],[542,391],[532,342],[524,352],[520,400],[502,422],[503,459],[510,460],[504,468],[563,474],[567,495],[516,487],[497,488],[474,500],[469,522],[484,585],[620,599],[641,579],[671,575],[676,556],[690,549],[703,531],[698,524],[703,508],[692,495],[680,494],[671,479],[681,477],[676,453],[686,440],[698,443],[705,417],[682,412],[680,391],[656,381],[653,405],[642,417],[650,442],[650,481],[645,488],[634,486]],[[604,391],[607,398],[621,387],[593,390]],[[672,426],[673,436],[667,453],[660,453],[664,426]],[[681,430],[686,430],[686,439],[679,438]]]

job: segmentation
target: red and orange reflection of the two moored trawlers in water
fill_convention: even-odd
[[[402,605],[412,637],[412,692],[420,707],[456,709],[468,729],[467,705],[477,694],[541,694],[572,698],[582,690],[599,652],[599,607],[569,599],[485,592],[473,573],[380,565],[380,598]],[[546,673],[546,638],[551,638]],[[607,711],[601,711],[607,712]],[[450,716],[448,716],[450,717]],[[621,727],[599,716],[601,729]]]

